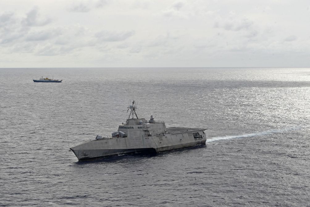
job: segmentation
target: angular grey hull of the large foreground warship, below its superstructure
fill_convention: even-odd
[[[182,131],[176,129],[182,129]],[[183,131],[184,129],[187,131]],[[192,128],[189,131],[188,129],[191,128],[171,128],[171,133],[158,136],[92,140],[70,148],[70,150],[73,151],[79,161],[84,161],[110,155],[156,154],[161,151],[206,145],[206,134],[203,132],[205,129]],[[201,137],[195,138],[193,132],[200,132]]]

